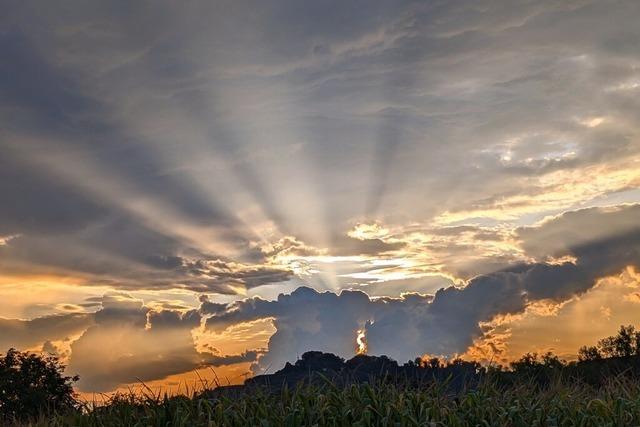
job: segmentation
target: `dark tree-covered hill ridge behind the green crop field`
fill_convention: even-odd
[[[570,362],[553,353],[527,353],[508,366],[483,366],[476,361],[437,357],[416,358],[401,365],[387,356],[359,354],[345,360],[332,353],[308,351],[273,374],[257,375],[247,379],[244,386],[228,388],[266,387],[279,391],[304,384],[330,382],[345,386],[386,381],[409,386],[439,383],[451,392],[459,392],[476,387],[488,377],[502,386],[521,382],[547,386],[553,381],[568,381],[597,388],[621,376],[640,379],[640,331],[633,326],[621,326],[617,335],[580,348],[578,360]]]

